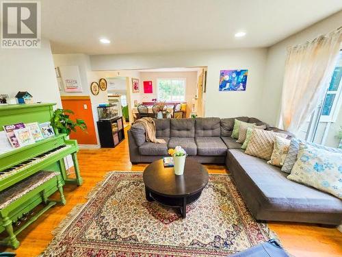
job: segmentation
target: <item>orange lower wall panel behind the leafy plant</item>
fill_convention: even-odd
[[[76,139],[78,144],[81,145],[97,145],[96,132],[94,127],[94,118],[92,116],[92,103],[88,97],[62,97],[62,106],[64,109],[69,109],[75,112],[75,114],[70,115],[70,118],[83,119],[88,130],[82,132],[77,128],[77,132],[70,133],[70,139]],[[87,105],[87,109],[84,109],[84,105]]]

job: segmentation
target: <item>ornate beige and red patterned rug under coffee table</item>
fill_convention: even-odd
[[[111,172],[61,223],[42,256],[227,256],[275,238],[248,212],[229,175],[209,183],[187,217],[145,199],[142,173]]]

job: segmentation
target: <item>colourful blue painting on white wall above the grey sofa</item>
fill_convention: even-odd
[[[245,91],[248,70],[220,71],[219,91]]]

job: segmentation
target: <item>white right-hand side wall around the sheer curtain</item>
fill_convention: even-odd
[[[282,79],[285,71],[287,47],[298,45],[327,34],[342,25],[342,11],[334,14],[311,27],[308,27],[285,40],[278,42],[267,51],[267,62],[263,86],[261,120],[278,125],[280,117],[280,99],[282,93]]]

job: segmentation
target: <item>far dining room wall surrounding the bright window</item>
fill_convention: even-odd
[[[142,101],[152,101],[152,99],[157,99],[157,79],[158,78],[185,78],[186,79],[186,91],[185,91],[185,101],[187,102],[187,117],[189,117],[190,112],[192,112],[192,99],[195,97],[197,91],[197,71],[181,71],[181,72],[141,72],[140,77],[142,83],[144,81],[152,81],[153,93],[144,94],[144,85],[142,88]]]

